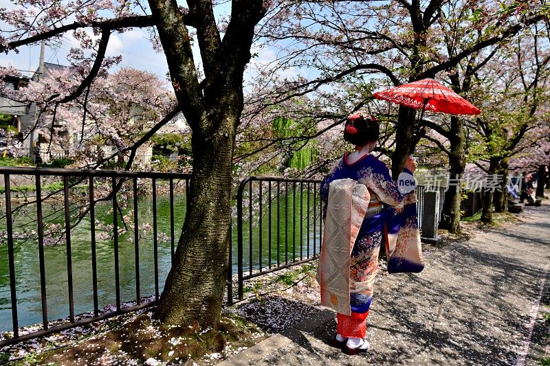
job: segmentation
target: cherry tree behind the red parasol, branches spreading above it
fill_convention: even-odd
[[[365,91],[360,102],[365,104],[373,85],[390,87],[452,71],[472,54],[544,19],[539,8],[519,5],[503,10],[490,1],[283,2],[259,32],[261,41],[279,47],[260,75],[278,84],[274,100],[354,84]],[[450,53],[445,52],[449,43]],[[298,76],[281,78],[283,70]],[[391,160],[397,176],[426,129],[412,123],[415,113],[409,108],[393,114]]]

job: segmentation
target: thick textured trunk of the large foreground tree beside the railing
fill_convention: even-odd
[[[148,3],[192,130],[193,155],[189,210],[155,317],[170,325],[217,329],[230,249],[232,155],[244,106],[243,73],[254,27],[268,7],[261,0],[233,1],[222,40],[212,1],[188,1],[186,14],[175,0]],[[197,30],[200,81],[188,26]]]

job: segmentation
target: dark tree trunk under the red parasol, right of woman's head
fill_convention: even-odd
[[[393,179],[403,171],[405,161],[415,150],[415,110],[399,106],[399,117],[395,126],[395,151],[391,155],[391,172]]]

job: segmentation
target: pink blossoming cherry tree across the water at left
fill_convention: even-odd
[[[67,93],[81,82],[75,69],[52,70],[11,93],[15,100],[39,109],[23,135],[43,130],[47,141],[43,150],[63,150],[78,168],[97,168],[115,158],[119,168],[124,168],[124,158],[128,157],[106,152],[104,147],[112,146],[116,152],[137,151],[135,142],[175,105],[173,91],[166,89],[163,80],[131,68],[98,77],[85,93],[70,102],[50,104],[56,93]]]

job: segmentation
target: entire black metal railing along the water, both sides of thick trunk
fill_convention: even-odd
[[[164,275],[173,264],[175,233],[179,234],[184,214],[188,211],[188,187],[192,183],[190,174],[49,168],[0,168],[0,174],[4,176],[5,193],[5,220],[0,219],[0,231],[3,229],[2,222],[5,222],[5,232],[0,240],[7,244],[0,245],[0,251],[7,247],[9,267],[9,290],[8,286],[4,286],[4,301],[11,305],[10,328],[13,330],[13,337],[1,340],[0,347],[156,304]],[[14,176],[31,179],[34,191],[25,190],[23,196],[19,195],[21,190],[13,187],[12,181],[17,181]],[[50,184],[45,185],[45,181],[50,181]],[[241,181],[236,192],[236,212],[232,218],[232,223],[236,225],[229,254],[228,304],[235,300],[235,283],[238,287],[236,299],[243,299],[245,280],[318,258],[323,228],[320,182],[317,179],[259,176]],[[184,186],[184,192],[177,189],[179,183]],[[52,190],[52,185],[56,189]],[[424,187],[417,187],[416,190],[421,220]],[[444,196],[444,189],[441,190],[441,196]],[[179,202],[175,199],[177,194],[180,194]],[[16,198],[17,195],[19,197]],[[163,204],[159,204],[159,197],[164,198]],[[44,205],[47,205],[46,211],[49,210],[50,214],[44,215]],[[106,208],[109,208],[107,212]],[[144,233],[142,226],[149,222],[143,220],[140,208],[152,211],[152,216],[149,216],[152,238]],[[30,214],[31,211],[36,215]],[[21,229],[19,216],[28,217],[32,224],[27,225],[34,225],[36,233],[32,238],[15,235],[14,229]],[[54,225],[61,227],[53,234],[51,230],[45,230],[52,220]],[[100,225],[101,222],[110,222],[112,227]],[[85,240],[79,242],[74,233],[83,235],[84,227]],[[133,235],[129,235],[132,232]],[[108,240],[99,240],[105,233],[110,235]],[[52,235],[55,234],[62,239],[59,242],[62,245],[51,247]],[[159,240],[162,235],[164,240]],[[15,254],[21,251],[22,242],[29,242],[28,246],[36,249],[32,255],[34,260],[38,258],[38,264],[33,267],[34,275],[30,277],[39,277],[36,285],[17,278],[21,266],[30,265],[15,258]],[[89,260],[78,259],[78,262],[75,249],[82,251],[83,246]],[[66,262],[64,273],[49,273],[46,257],[52,248],[63,254],[63,261]],[[107,254],[112,261],[106,264]],[[25,260],[32,260],[32,255],[27,255]],[[3,255],[0,255],[0,260],[3,260]],[[83,271],[82,268],[89,266],[91,275],[86,280],[91,281],[91,289],[88,290],[91,296],[83,300],[80,299],[82,294],[74,291],[74,268]],[[98,270],[100,267],[109,267],[112,273],[112,284],[107,289],[100,286],[100,280],[106,277],[106,273]],[[121,273],[121,268],[124,268],[124,273]],[[148,273],[144,274],[145,270]],[[67,310],[63,316],[53,316],[54,319],[61,318],[61,321],[50,319],[52,305],[49,304],[47,287],[52,276],[63,277],[60,282],[66,288],[66,296],[61,301]],[[22,304],[22,299],[18,293],[28,292],[32,286],[36,287],[38,294],[33,310],[41,312],[42,329],[22,334],[21,327],[38,321],[20,321],[19,317],[18,304]],[[100,306],[100,295],[104,307]],[[78,306],[76,299],[79,300]],[[109,307],[109,304],[113,306]]]

